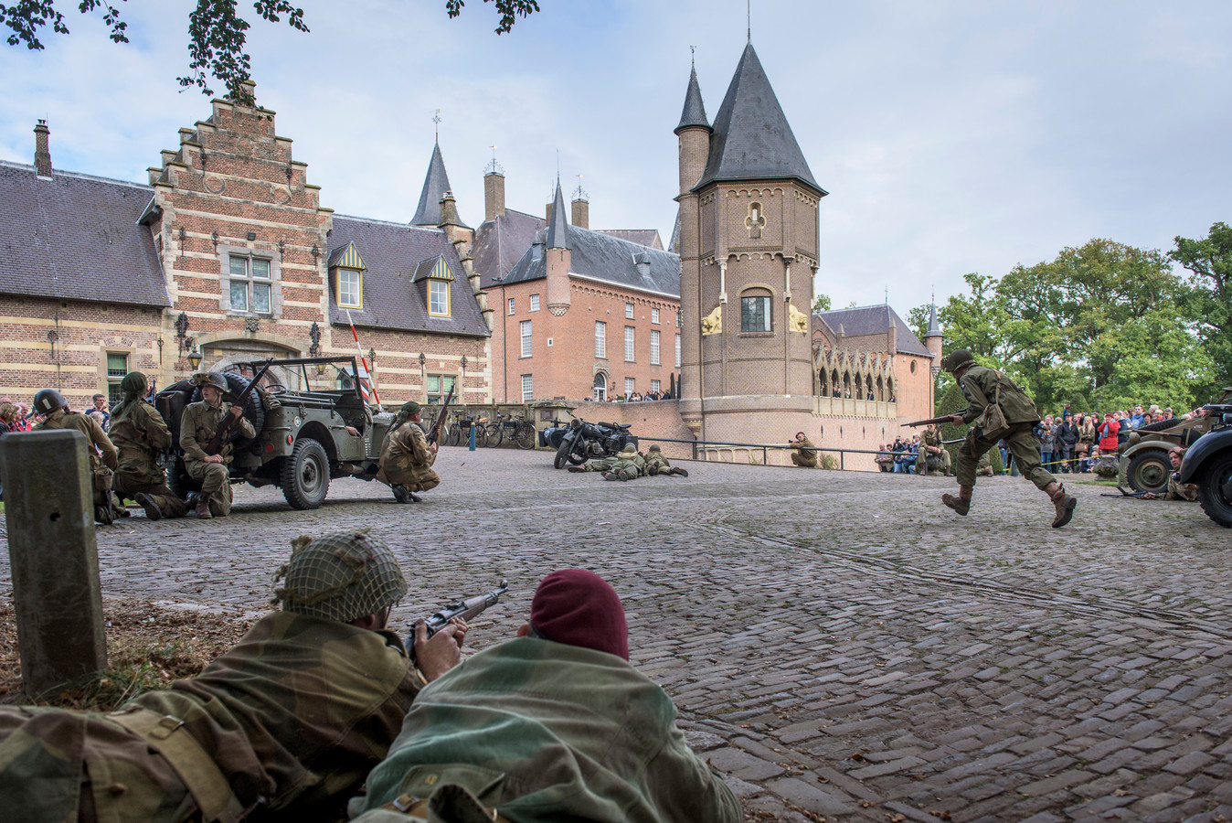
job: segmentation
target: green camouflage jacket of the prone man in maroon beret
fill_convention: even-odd
[[[351,811],[453,782],[511,823],[737,823],[736,796],[675,716],[663,689],[614,654],[508,641],[420,692]]]

